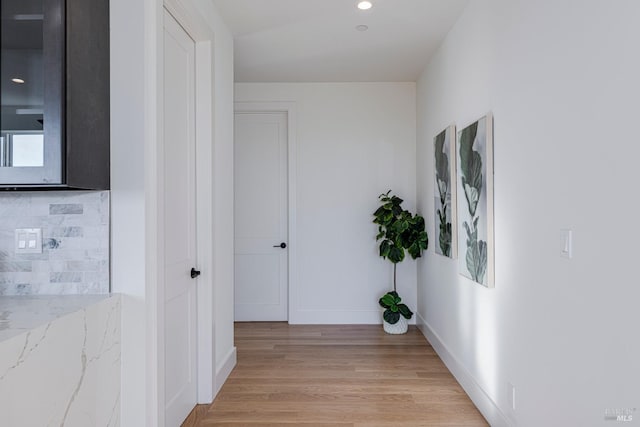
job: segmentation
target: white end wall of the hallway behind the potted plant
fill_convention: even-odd
[[[388,189],[415,208],[415,84],[238,83],[236,101],[295,103],[290,322],[381,323],[392,265],[378,256],[372,213]],[[414,261],[398,282],[415,308]]]

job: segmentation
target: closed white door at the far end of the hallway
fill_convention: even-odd
[[[234,154],[235,320],[287,320],[287,114],[237,112]]]

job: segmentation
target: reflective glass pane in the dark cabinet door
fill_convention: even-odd
[[[43,0],[2,0],[0,167],[43,166]]]

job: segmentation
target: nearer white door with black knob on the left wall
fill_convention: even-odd
[[[164,12],[164,386],[165,425],[196,405],[195,42]]]

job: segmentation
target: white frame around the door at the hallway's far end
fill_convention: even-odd
[[[296,234],[296,178],[297,139],[296,103],[280,101],[237,101],[236,113],[285,113],[287,115],[287,233],[288,233],[288,322],[296,324],[298,308],[297,234]],[[235,284],[234,284],[235,286]]]

